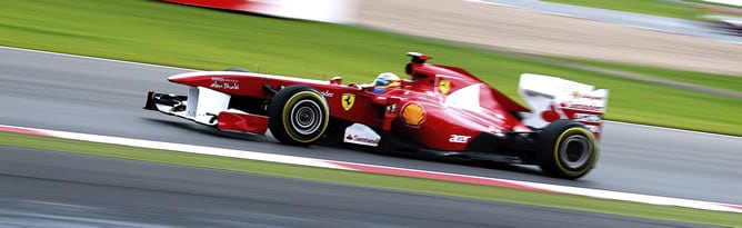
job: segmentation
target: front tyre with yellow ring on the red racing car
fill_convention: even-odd
[[[330,107],[324,97],[303,85],[285,87],[268,103],[268,128],[285,145],[309,146],[324,136]]]

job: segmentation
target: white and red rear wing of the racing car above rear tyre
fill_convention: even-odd
[[[608,90],[558,77],[534,73],[521,75],[519,95],[531,107],[532,113],[523,122],[543,128],[558,119],[584,123],[595,137],[601,132],[608,103]]]

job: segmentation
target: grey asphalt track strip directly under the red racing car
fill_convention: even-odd
[[[462,166],[320,146],[298,149],[141,109],[148,90],[186,92],[166,81],[183,71],[0,49],[0,123],[742,204],[739,137],[608,122],[598,167],[580,180],[560,180],[533,167]]]

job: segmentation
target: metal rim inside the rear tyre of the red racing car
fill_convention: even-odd
[[[559,158],[570,169],[579,169],[590,159],[591,147],[588,137],[573,135],[566,137],[559,148]]]

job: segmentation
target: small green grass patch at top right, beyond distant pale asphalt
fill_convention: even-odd
[[[544,0],[556,3],[636,12],[681,19],[698,19],[701,11],[691,6],[656,0]]]

